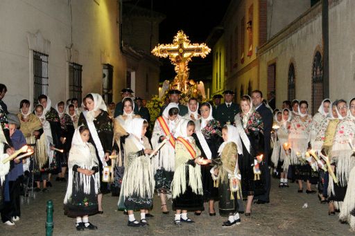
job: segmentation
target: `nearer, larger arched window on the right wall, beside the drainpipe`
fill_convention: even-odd
[[[322,55],[317,51],[312,67],[312,114],[315,114],[323,98],[323,63]]]

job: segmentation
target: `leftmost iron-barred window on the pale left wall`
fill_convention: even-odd
[[[38,96],[48,95],[48,55],[33,51],[33,103]]]

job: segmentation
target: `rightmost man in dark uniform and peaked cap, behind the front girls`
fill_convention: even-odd
[[[226,90],[223,92],[225,102],[217,107],[214,118],[220,122],[220,125],[232,125],[234,123],[234,116],[239,113],[239,105],[233,102],[234,92]]]

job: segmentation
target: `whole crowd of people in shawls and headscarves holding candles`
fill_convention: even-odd
[[[275,109],[275,93],[272,108],[259,90],[242,96],[240,105],[227,90],[185,106],[180,91],[171,90],[148,135],[149,111],[131,89],[108,107],[97,93],[53,105],[41,95],[33,108],[21,100],[18,114],[8,113],[2,100],[6,86],[0,91],[0,208],[8,226],[20,219],[21,185],[31,174],[36,192],[51,187],[52,174],[67,181],[64,214],[76,218],[77,230],[97,229],[89,215],[103,214],[108,192],[119,197],[128,226],[149,225],[157,193],[162,214],[171,208],[177,226],[193,224],[205,206],[215,217],[218,201],[222,227],[232,227],[241,224],[239,214],[250,217],[252,203],[270,202],[274,175],[279,188],[296,181],[298,193],[305,183],[307,194],[318,192],[320,203],[329,204],[329,215],[340,211],[340,221],[355,228],[355,98],[325,99],[312,117],[304,100]]]

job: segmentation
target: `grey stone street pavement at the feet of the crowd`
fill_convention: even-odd
[[[53,176],[55,179],[55,176]],[[64,216],[62,201],[66,183],[53,181],[48,192],[36,194],[30,203],[21,206],[21,220],[15,226],[0,224],[0,235],[45,235],[46,201],[53,200],[53,235],[354,235],[347,224],[340,224],[337,216],[328,216],[327,205],[321,205],[316,194],[297,193],[297,185],[278,188],[278,181],[272,179],[271,202],[252,206],[252,216],[241,215],[241,224],[233,228],[222,228],[225,218],[210,217],[208,211],[196,216],[189,213],[195,224],[173,225],[173,212],[163,215],[160,202],[155,196],[155,217],[149,219],[150,226],[131,228],[128,217],[116,210],[118,197],[103,197],[103,215],[89,217],[98,230],[76,231],[74,219]],[[308,203],[308,208],[302,208]],[[216,210],[218,206],[216,205]],[[218,210],[217,210],[218,211]],[[338,214],[337,214],[338,215]],[[139,212],[135,213],[139,219]]]

